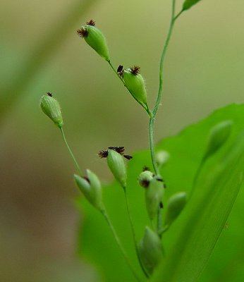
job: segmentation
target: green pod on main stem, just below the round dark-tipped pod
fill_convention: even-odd
[[[147,214],[149,215],[151,221],[157,215],[159,209],[159,204],[164,195],[164,184],[161,180],[153,178],[150,181],[150,185],[145,190],[145,201],[147,207]]]

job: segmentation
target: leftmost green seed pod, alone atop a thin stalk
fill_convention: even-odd
[[[59,102],[51,96],[51,93],[47,92],[47,94],[41,97],[40,106],[44,114],[49,116],[59,128],[63,127],[63,117]]]

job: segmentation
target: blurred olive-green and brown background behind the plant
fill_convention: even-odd
[[[141,66],[153,105],[170,8],[170,0],[1,0],[0,281],[96,281],[75,255],[75,168],[39,97],[49,91],[59,100],[80,165],[109,182],[97,152],[146,148],[147,116],[75,30],[96,20],[114,65]],[[179,18],[156,140],[219,106],[244,102],[243,12],[240,0],[204,0]]]

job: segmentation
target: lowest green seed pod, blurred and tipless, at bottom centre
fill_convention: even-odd
[[[148,226],[145,228],[145,234],[138,243],[138,255],[140,262],[148,274],[152,275],[163,257],[163,250],[159,235],[152,231]]]

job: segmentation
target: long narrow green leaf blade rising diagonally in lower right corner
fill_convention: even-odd
[[[194,282],[212,255],[243,182],[244,133],[202,173],[186,207],[183,228],[153,281]]]

